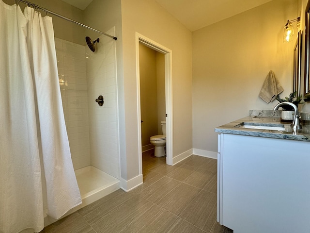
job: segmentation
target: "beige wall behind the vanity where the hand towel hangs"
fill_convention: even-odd
[[[273,0],[193,32],[193,148],[217,151],[214,128],[249,109],[273,109],[277,101],[258,96],[269,70],[283,96],[292,91],[294,43],[282,37],[294,18],[296,0]]]

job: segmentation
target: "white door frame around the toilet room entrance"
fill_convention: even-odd
[[[165,95],[166,95],[166,163],[172,165],[173,156],[173,104],[172,104],[172,51],[157,42],[136,32],[136,67],[137,67],[137,99],[138,99],[138,147],[139,166],[142,174],[142,142],[141,142],[141,105],[140,105],[140,65],[139,43],[165,55]]]

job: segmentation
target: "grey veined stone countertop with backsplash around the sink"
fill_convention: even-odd
[[[242,124],[243,122],[268,123],[275,124],[275,126],[277,124],[283,124],[285,131],[238,128],[238,125],[240,126],[240,124]],[[294,131],[291,128],[291,122],[281,121],[279,110],[250,110],[249,116],[219,126],[215,129],[215,132],[310,142],[309,121],[301,120],[301,125],[302,129]]]

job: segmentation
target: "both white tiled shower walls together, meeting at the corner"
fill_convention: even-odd
[[[119,178],[115,41],[99,38],[95,52],[55,38],[62,104],[74,168],[92,165]]]

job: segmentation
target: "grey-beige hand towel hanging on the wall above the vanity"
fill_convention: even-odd
[[[275,73],[270,70],[265,81],[263,82],[263,87],[260,91],[259,97],[266,103],[270,103],[275,100],[277,95],[279,95],[282,91],[283,87],[276,78]]]

